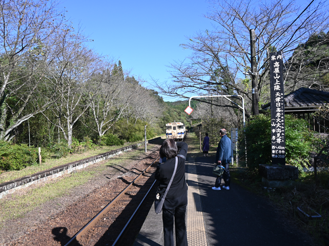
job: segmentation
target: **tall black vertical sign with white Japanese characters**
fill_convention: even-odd
[[[285,165],[282,52],[270,53],[272,164]]]

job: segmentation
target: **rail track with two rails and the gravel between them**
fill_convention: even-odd
[[[66,244],[72,245],[123,245],[127,240],[125,230],[152,189],[154,189],[156,158],[145,170],[134,170],[135,175],[125,177],[129,184],[107,206],[90,219]],[[153,178],[152,178],[153,176]],[[118,192],[116,192],[118,193]],[[153,194],[153,193],[152,193]],[[77,228],[79,226],[76,226]],[[132,236],[132,235],[128,235]],[[122,239],[124,238],[124,239]],[[59,241],[59,240],[58,240]],[[60,240],[63,243],[63,240]]]

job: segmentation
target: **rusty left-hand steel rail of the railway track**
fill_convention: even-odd
[[[68,241],[64,246],[71,246],[74,245],[78,240],[80,240],[81,236],[85,235],[86,232],[95,225],[95,223],[99,220],[101,216],[106,214],[113,205],[117,202],[118,199],[121,198],[122,195],[125,194],[125,192],[132,187],[132,185],[137,181],[151,166],[155,161],[157,161],[160,157],[156,158],[149,167],[147,167],[142,173],[140,173],[124,190],[122,190],[113,200],[107,204],[107,206],[102,209],[94,218],[92,218],[80,231],[78,231],[71,239]]]

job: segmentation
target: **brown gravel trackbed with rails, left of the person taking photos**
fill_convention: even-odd
[[[15,224],[12,224],[13,228],[16,224],[26,223],[25,221],[29,221],[28,223],[32,226],[21,233],[22,236],[0,244],[4,246],[64,246],[73,237],[81,235],[79,240],[73,240],[75,244],[68,245],[112,245],[115,241],[117,242],[114,245],[132,245],[154,201],[156,186],[153,186],[151,191],[150,187],[155,180],[158,151],[158,147],[155,146],[146,157],[139,160],[131,159],[131,164],[106,167],[100,173],[101,176],[95,176],[81,186],[81,192],[66,193],[65,196],[51,201],[50,206],[46,204],[33,212],[36,216],[48,214],[49,217],[42,223],[35,224],[34,217],[26,217],[26,220],[18,219]],[[145,199],[148,192],[152,195]],[[81,193],[84,195],[80,196]],[[53,213],[53,209],[60,206],[64,200],[68,200],[68,205],[63,210]],[[106,207],[108,209],[111,207],[111,209],[103,213],[103,216],[99,216]],[[138,212],[135,212],[138,207]],[[130,219],[134,213],[135,216]],[[93,219],[97,215],[101,221]],[[91,220],[93,220],[93,225],[89,224],[86,233],[83,233],[83,236],[78,234]],[[129,220],[130,224],[127,224]],[[128,228],[128,233],[121,233],[124,228]],[[8,234],[10,235],[12,234]],[[124,240],[119,239],[122,237]]]

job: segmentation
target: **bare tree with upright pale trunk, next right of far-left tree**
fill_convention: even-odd
[[[69,147],[74,125],[90,107],[91,98],[98,93],[89,84],[95,83],[100,72],[100,57],[86,46],[87,41],[79,32],[64,35],[58,44],[60,55],[51,70],[50,80],[59,85],[57,93],[60,96],[50,108],[57,118],[57,122],[52,123],[63,133]],[[96,88],[101,89],[100,86]]]

